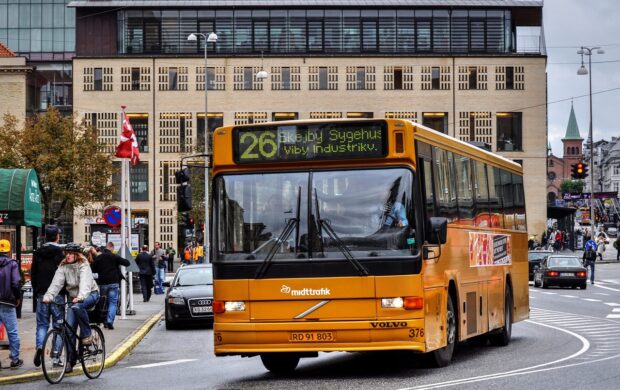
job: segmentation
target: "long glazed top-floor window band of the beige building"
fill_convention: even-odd
[[[34,1],[34,0],[33,0]],[[216,32],[214,54],[514,53],[510,10],[121,10],[121,54],[200,54],[193,32]]]

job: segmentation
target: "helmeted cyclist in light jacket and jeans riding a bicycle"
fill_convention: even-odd
[[[67,323],[74,332],[77,331],[77,325],[80,325],[82,345],[91,345],[93,343],[92,331],[86,311],[99,301],[99,287],[93,278],[88,260],[82,254],[82,247],[79,244],[70,243],[65,246],[64,252],[65,258],[58,266],[52,284],[43,297],[43,302],[52,302],[64,288],[69,295],[70,302]],[[70,360],[65,372],[73,371],[73,366],[77,361],[75,333],[71,338],[68,348]]]

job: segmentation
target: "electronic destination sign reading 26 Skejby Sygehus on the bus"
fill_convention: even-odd
[[[238,163],[384,157],[383,121],[256,126],[234,129]]]

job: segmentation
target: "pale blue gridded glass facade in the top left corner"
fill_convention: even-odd
[[[0,0],[0,41],[30,60],[69,60],[75,9],[69,0]]]

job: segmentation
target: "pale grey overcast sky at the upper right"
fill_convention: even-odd
[[[545,0],[543,18],[548,55],[549,141],[553,154],[562,156],[561,139],[566,133],[571,97],[581,137],[588,139],[589,81],[588,75],[577,75],[580,46],[601,46],[605,50],[605,54],[592,56],[594,141],[620,136],[620,1]],[[586,68],[587,61],[584,56]],[[617,89],[602,92],[614,88]]]

